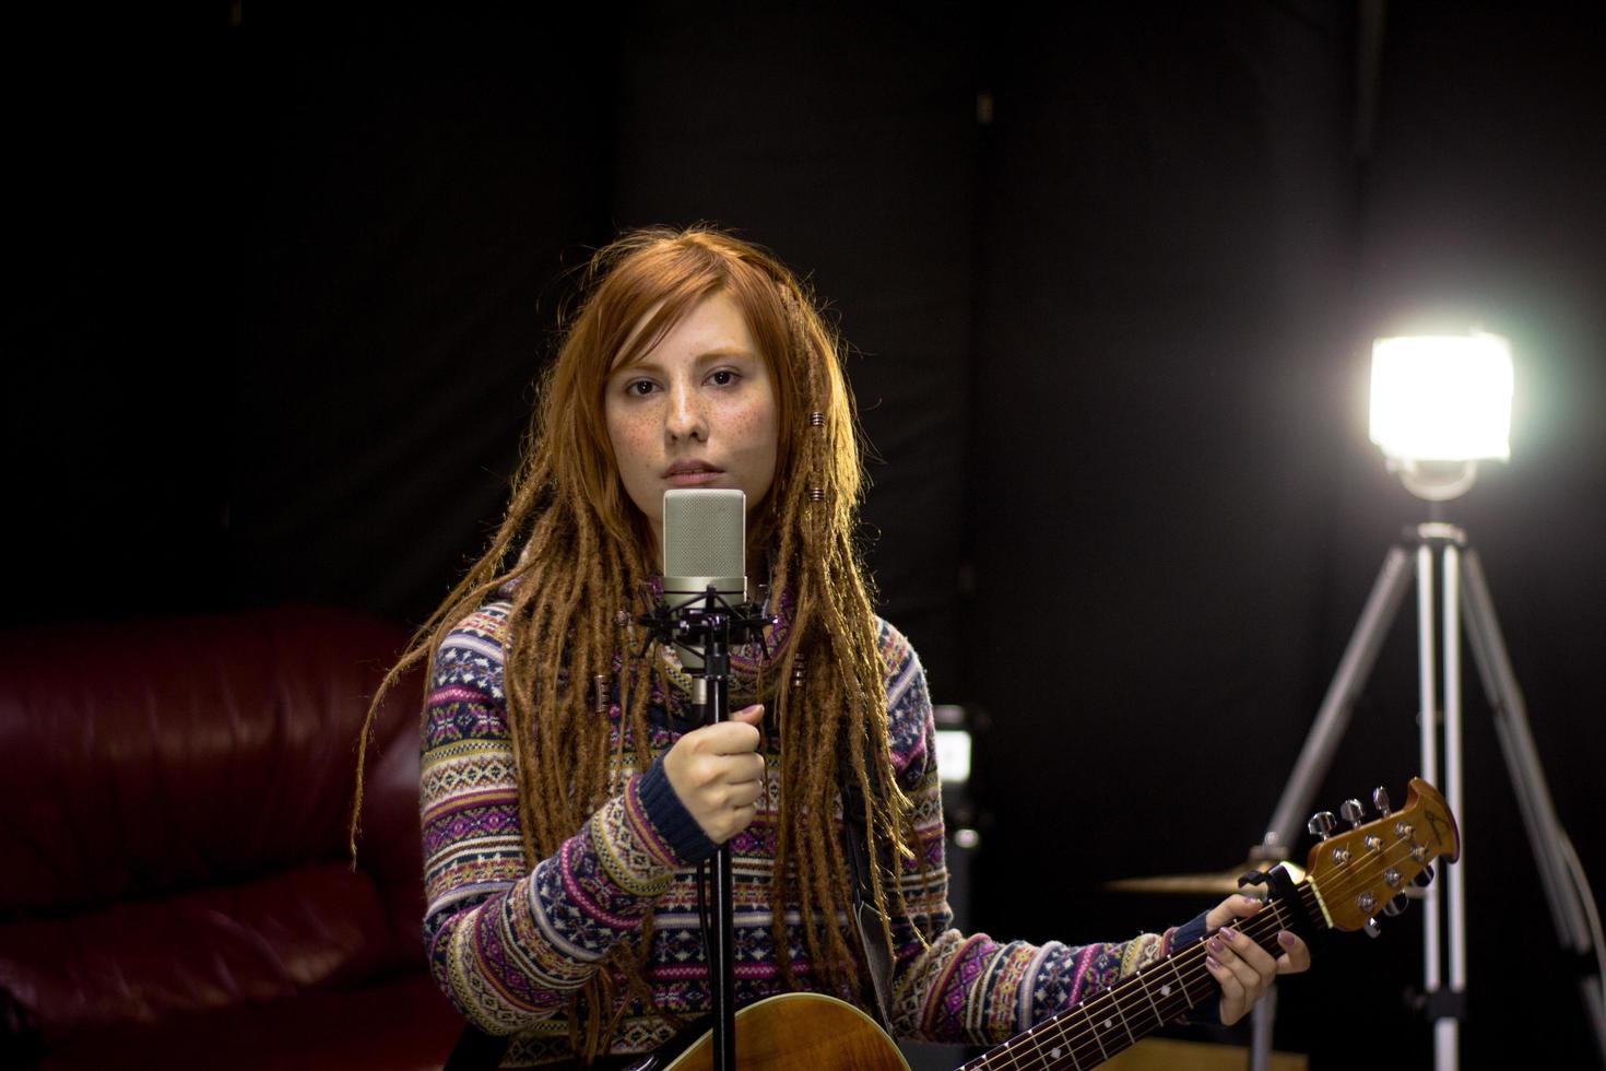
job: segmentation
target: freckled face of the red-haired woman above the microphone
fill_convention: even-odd
[[[620,480],[657,546],[665,491],[739,488],[752,511],[776,475],[769,366],[726,294],[703,299],[634,364],[613,368],[602,411]]]

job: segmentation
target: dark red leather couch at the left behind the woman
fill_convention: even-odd
[[[406,636],[336,610],[0,634],[0,1066],[438,1068]]]

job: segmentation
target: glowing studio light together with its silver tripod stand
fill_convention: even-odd
[[[1596,960],[1593,976],[1579,971],[1579,991],[1588,1008],[1596,1049],[1606,1060],[1606,941],[1600,938],[1596,899],[1556,817],[1482,562],[1466,533],[1444,520],[1437,506],[1473,485],[1479,461],[1510,459],[1510,430],[1511,344],[1500,336],[1473,331],[1452,337],[1378,339],[1373,344],[1372,442],[1383,450],[1389,469],[1399,474],[1407,490],[1434,503],[1429,511],[1433,519],[1405,528],[1383,559],[1315,724],[1251,859],[1282,859],[1286,846],[1298,838],[1299,816],[1310,806],[1351,711],[1360,702],[1383,637],[1412,583],[1410,560],[1415,557],[1418,769],[1423,780],[1434,784],[1442,759],[1450,814],[1466,814],[1461,726],[1465,628],[1466,647],[1478,665],[1494,716],[1494,737],[1505,753],[1506,772],[1529,833],[1534,853],[1529,873],[1545,891],[1563,952],[1579,962],[1588,957]],[[1352,803],[1360,812],[1360,803]],[[1378,809],[1386,811],[1386,801]],[[1453,1071],[1460,1061],[1468,962],[1465,883],[1465,869],[1452,867],[1444,882],[1423,890],[1423,996],[1418,1007],[1428,1008],[1433,1018],[1434,1066],[1439,1071]],[[1388,909],[1384,914],[1389,914]],[[1373,917],[1372,923],[1378,920]],[[1254,1007],[1251,1066],[1256,1071],[1270,1066],[1274,1007],[1270,999]]]

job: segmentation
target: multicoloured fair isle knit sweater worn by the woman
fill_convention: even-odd
[[[713,845],[663,774],[663,753],[678,734],[668,718],[654,718],[657,761],[644,771],[631,766],[634,748],[610,748],[618,763],[612,771],[617,795],[556,854],[528,870],[503,690],[506,615],[506,602],[469,615],[435,658],[421,777],[430,970],[471,1021],[514,1036],[503,1066],[556,1063],[572,1057],[570,994],[652,915],[647,981],[657,1010],[631,1002],[610,1042],[613,1053],[649,1052],[675,1034],[658,1010],[683,1020],[710,1010],[695,862],[711,854]],[[914,801],[915,848],[930,864],[923,875],[919,867],[906,869],[909,914],[893,920],[893,1031],[922,1040],[1001,1042],[1164,955],[1176,931],[1070,947],[1002,944],[949,928],[925,671],[909,642],[885,621],[878,642],[891,761]],[[609,718],[617,745],[617,703]],[[771,939],[779,804],[772,737],[766,737],[764,761],[772,774],[768,798],[760,798],[752,825],[731,841],[739,1007],[782,991],[777,954],[792,957],[798,986],[814,984],[795,912],[787,912],[789,947],[777,951]]]

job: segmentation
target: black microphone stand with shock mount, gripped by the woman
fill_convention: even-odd
[[[675,607],[658,605],[641,623],[660,642],[702,652],[702,670],[692,673],[695,721],[716,724],[729,719],[731,641],[764,642],[764,626],[774,618],[752,602],[731,605],[715,584]],[[764,650],[768,655],[768,647]],[[731,841],[713,857],[713,923],[708,939],[708,979],[713,994],[713,1066],[736,1071],[736,904]]]

